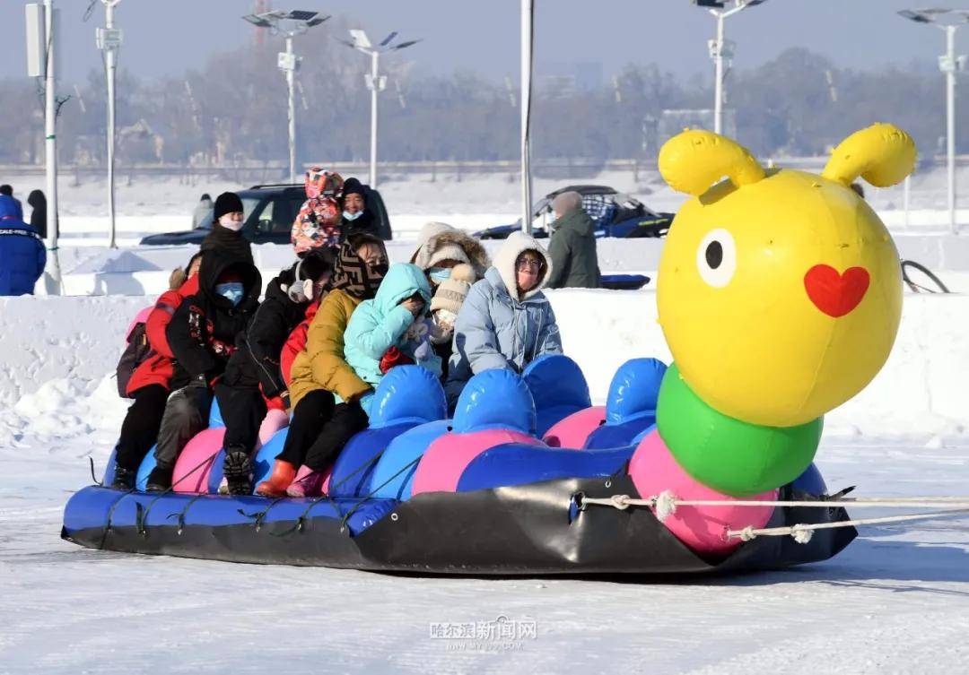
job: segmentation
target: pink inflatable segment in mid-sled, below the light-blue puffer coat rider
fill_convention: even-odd
[[[467,434],[445,434],[427,447],[414,473],[412,495],[422,492],[454,492],[457,481],[471,461],[489,447],[505,443],[545,445],[512,429],[486,429]]]

